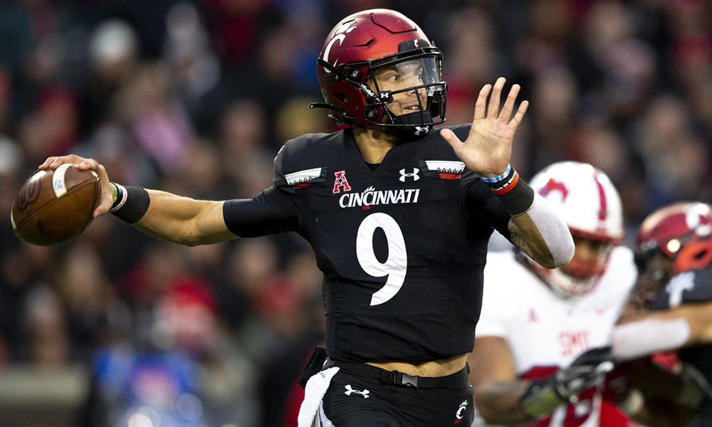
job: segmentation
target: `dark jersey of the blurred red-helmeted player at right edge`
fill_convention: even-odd
[[[712,270],[689,270],[674,275],[659,292],[652,310],[667,310],[681,304],[712,301]],[[683,362],[691,364],[712,383],[712,344],[686,347],[678,351]]]

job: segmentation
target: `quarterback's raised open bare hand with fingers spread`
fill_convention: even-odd
[[[481,176],[502,174],[512,157],[514,133],[529,106],[522,101],[515,111],[520,86],[513,85],[500,108],[502,89],[506,79],[498,78],[494,85],[484,85],[475,103],[475,115],[467,139],[462,142],[449,129],[440,135],[453,147],[455,154],[471,171]]]

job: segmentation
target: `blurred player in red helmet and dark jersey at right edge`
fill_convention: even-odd
[[[618,400],[649,426],[710,426],[712,206],[679,202],[647,216],[636,263],[638,283],[612,339],[613,354],[629,361],[612,372],[627,380]],[[663,352],[674,363],[649,357]]]

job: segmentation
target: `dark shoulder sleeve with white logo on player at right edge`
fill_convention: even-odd
[[[658,294],[653,310],[712,301],[712,270],[689,270],[674,275]]]

